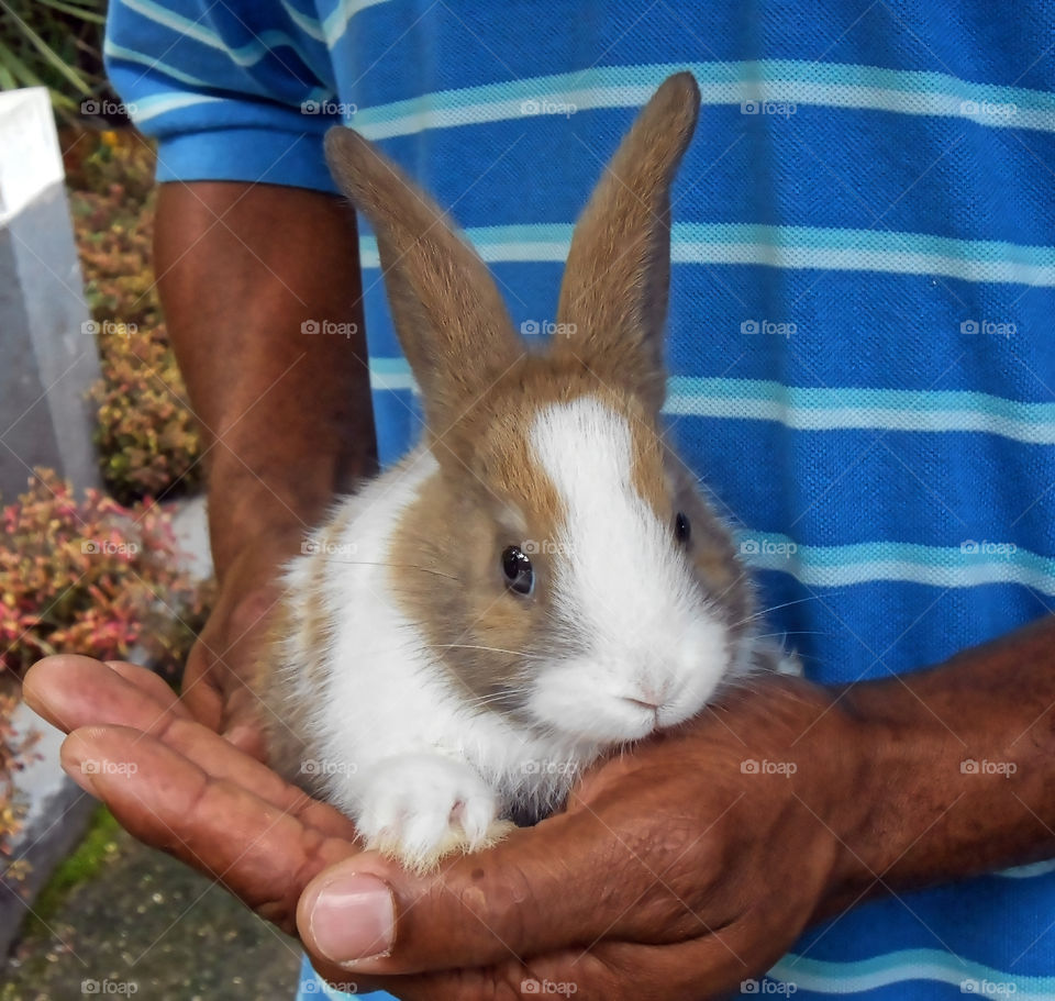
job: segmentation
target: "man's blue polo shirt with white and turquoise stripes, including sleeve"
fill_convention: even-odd
[[[120,0],[107,60],[163,181],[333,191],[326,129],[379,141],[532,336],[603,164],[690,69],[668,424],[771,630],[846,682],[1055,603],[1053,38],[1045,0]],[[420,411],[368,233],[362,263],[389,463]],[[1055,998],[1055,864],[869,902],[757,987]]]

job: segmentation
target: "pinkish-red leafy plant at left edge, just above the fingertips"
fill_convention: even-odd
[[[169,670],[182,664],[203,592],[158,504],[122,508],[95,490],[78,500],[37,469],[2,519],[0,668],[21,675],[55,653],[123,659],[133,647]]]

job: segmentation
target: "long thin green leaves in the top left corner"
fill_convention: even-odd
[[[102,67],[106,0],[0,3],[0,90],[47,87],[71,118],[85,98],[109,92]]]

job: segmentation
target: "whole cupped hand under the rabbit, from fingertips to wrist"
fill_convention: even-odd
[[[124,826],[287,931],[296,923],[336,985],[408,1001],[490,1001],[525,980],[617,1001],[713,997],[767,969],[853,864],[842,841],[860,821],[862,742],[807,682],[736,693],[586,776],[565,813],[415,878],[360,853],[349,821],[196,724],[145,675],[48,658],[26,698],[89,727],[64,764]],[[85,777],[85,760],[136,768]]]

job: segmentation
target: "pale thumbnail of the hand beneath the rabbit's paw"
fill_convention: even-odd
[[[319,891],[309,925],[319,950],[334,963],[380,959],[396,939],[392,891],[376,876],[335,877]]]

